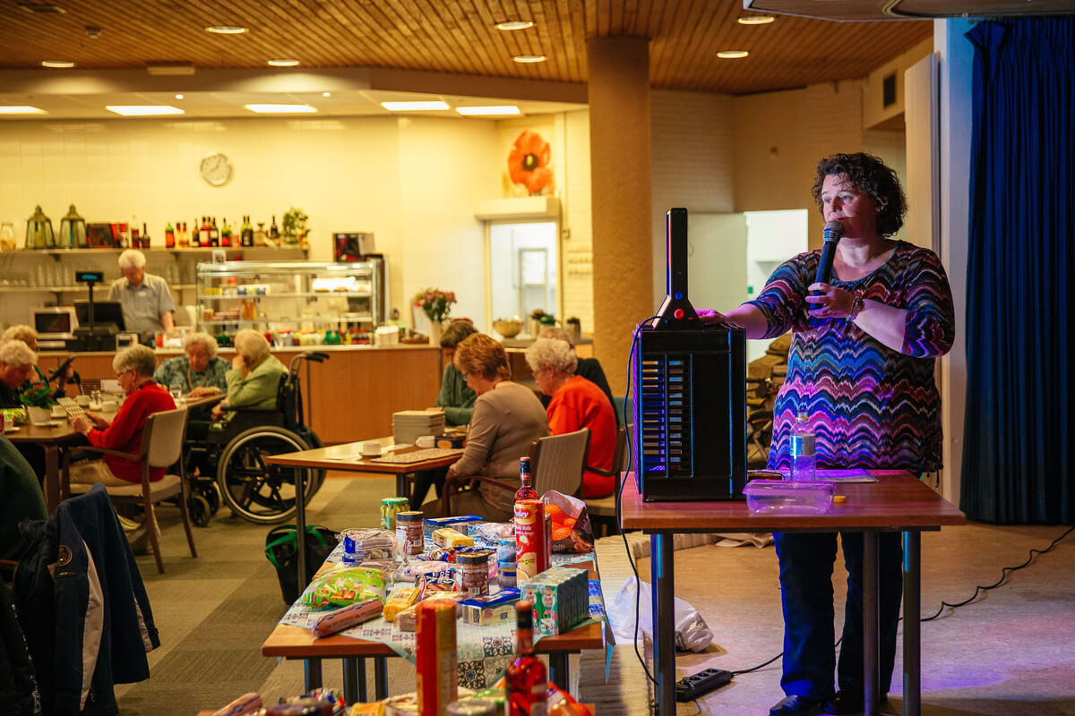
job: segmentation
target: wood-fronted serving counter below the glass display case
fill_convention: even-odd
[[[305,346],[275,348],[285,366],[306,350],[318,350],[331,357],[325,363],[305,362],[302,368],[305,417],[326,443],[349,442],[370,435],[383,435],[399,410],[428,408],[436,401],[441,386],[440,350],[416,346]],[[158,350],[157,362],[182,355],[177,350]],[[234,349],[221,348],[220,357],[230,362]],[[38,364],[45,372],[75,356],[74,369],[84,380],[115,379],[112,370],[114,351],[42,352]],[[69,393],[75,386],[69,386]],[[309,403],[305,398],[309,397]]]

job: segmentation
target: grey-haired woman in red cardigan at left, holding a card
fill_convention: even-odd
[[[153,381],[157,356],[152,349],[145,346],[124,349],[112,361],[112,368],[127,395],[119,412],[110,422],[96,412],[87,411],[86,418],[75,418],[71,426],[98,448],[137,454],[142,449],[142,428],[146,418],[162,410],[174,410],[175,400]],[[164,468],[150,469],[152,482],[162,477]],[[103,459],[72,465],[71,482],[103,482],[105,485],[140,483],[142,468],[138,461],[105,455]]]

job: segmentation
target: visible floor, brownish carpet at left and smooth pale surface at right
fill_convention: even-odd
[[[393,491],[391,478],[332,477],[314,498],[311,522],[334,529],[375,524],[379,498]],[[149,655],[148,681],[117,687],[121,713],[190,716],[246,691],[259,691],[270,702],[299,693],[301,662],[260,656],[262,640],[286,611],[275,571],[262,552],[270,527],[227,516],[224,508],[209,527],[196,530],[199,557],[192,559],[178,510],[166,505],[158,518],[168,571],[158,574],[152,555],[139,557],[139,566],[162,645]],[[975,585],[995,582],[1003,566],[1021,564],[1031,547],[1044,547],[1063,531],[971,525],[926,532],[922,613],[936,612],[942,599],[971,597]],[[922,625],[924,716],[1075,716],[1073,557],[1075,535],[985,598]],[[622,541],[600,540],[598,561],[605,599],[612,600],[631,574]],[[705,544],[677,551],[675,561],[676,595],[700,611],[714,633],[705,652],[679,655],[679,676],[707,667],[748,669],[780,652],[772,546]],[[639,560],[639,569],[648,581],[647,558]],[[837,567],[837,600],[843,580]],[[842,609],[837,631],[838,614]],[[650,658],[648,648],[643,653]],[[679,704],[677,713],[763,716],[782,697],[779,663],[736,676],[697,702]],[[584,701],[597,703],[601,716],[646,714],[651,688],[630,643],[611,649],[607,668],[606,680],[600,653],[573,658],[572,688]],[[341,683],[340,669],[331,661],[325,664],[325,682]],[[390,659],[389,683],[393,692],[413,690],[414,668]],[[889,704],[897,710],[901,687],[897,673]]]

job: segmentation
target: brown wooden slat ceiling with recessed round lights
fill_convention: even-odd
[[[56,0],[63,13],[31,13],[25,4],[0,0],[0,70],[40,69],[46,59],[97,70],[156,61],[264,69],[288,57],[305,68],[585,83],[588,38],[643,35],[651,39],[654,87],[740,94],[863,77],[932,33],[929,20],[780,15],[745,26],[736,18],[758,13],[744,12],[741,0]],[[511,19],[535,25],[493,27]],[[211,25],[249,32],[211,34]],[[87,27],[100,35],[90,39]],[[750,55],[717,58],[726,49]],[[548,59],[520,64],[516,55]]]

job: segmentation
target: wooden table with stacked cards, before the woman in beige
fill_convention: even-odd
[[[374,439],[381,443],[382,451],[395,443],[395,439],[391,436]],[[315,450],[300,450],[299,452],[281,455],[267,455],[264,461],[270,465],[283,465],[285,467],[313,467],[322,470],[343,470],[345,472],[372,472],[377,476],[395,474],[396,494],[400,497],[406,497],[407,474],[447,467],[462,457],[462,452],[458,452],[416,463],[384,463],[374,458],[362,457],[363,442],[368,442],[368,440],[345,442]],[[420,448],[407,445],[406,448],[392,450],[391,454],[402,454],[417,450],[420,450]],[[306,573],[306,497],[302,484],[302,472],[299,470],[295,472],[295,506],[296,561],[298,562],[298,574],[302,575]],[[305,584],[300,584],[299,586],[304,587]]]

